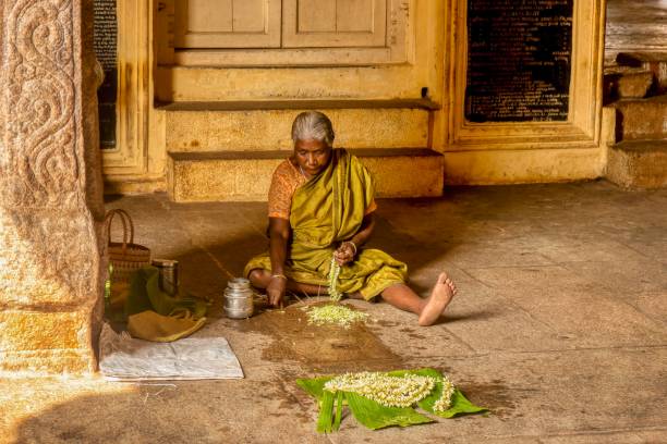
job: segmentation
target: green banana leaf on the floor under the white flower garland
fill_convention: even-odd
[[[433,392],[417,403],[419,407],[441,418],[453,418],[457,415],[476,414],[487,410],[484,407],[473,405],[465,398],[463,393],[454,388],[451,398],[451,407],[446,411],[435,411],[434,404],[442,394],[442,374],[435,369],[416,370],[396,370],[387,374],[392,377],[403,377],[405,374],[419,374],[436,379]],[[391,425],[408,427],[433,422],[432,418],[419,414],[412,407],[385,407],[372,399],[350,392],[337,392],[336,394],[324,390],[324,385],[335,377],[322,377],[313,379],[299,379],[296,384],[308,395],[317,399],[319,406],[319,417],[317,420],[317,431],[330,433],[340,427],[341,409],[348,405],[350,411],[356,420],[364,427],[377,430]],[[336,410],[335,410],[336,408]],[[336,412],[336,416],[333,416]]]

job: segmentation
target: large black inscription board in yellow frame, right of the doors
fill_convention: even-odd
[[[468,0],[465,119],[568,119],[573,0]]]

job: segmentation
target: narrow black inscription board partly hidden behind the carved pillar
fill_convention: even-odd
[[[116,101],[118,58],[116,0],[95,0],[95,55],[105,70],[105,82],[97,90],[99,138],[102,149],[116,147]]]

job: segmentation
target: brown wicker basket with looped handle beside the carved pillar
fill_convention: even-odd
[[[119,215],[123,224],[122,243],[111,242],[111,222],[116,214]],[[133,272],[150,264],[150,249],[134,243],[134,224],[125,210],[109,210],[105,218],[105,229],[109,239],[109,263],[113,266],[111,280],[117,283],[129,282]],[[128,229],[130,233],[128,233]],[[128,234],[130,234],[129,239]]]

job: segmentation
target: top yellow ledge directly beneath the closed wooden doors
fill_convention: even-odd
[[[154,89],[160,101],[413,98],[422,97],[424,87],[438,97],[438,83],[425,78],[433,70],[425,60],[364,66],[158,65]]]

